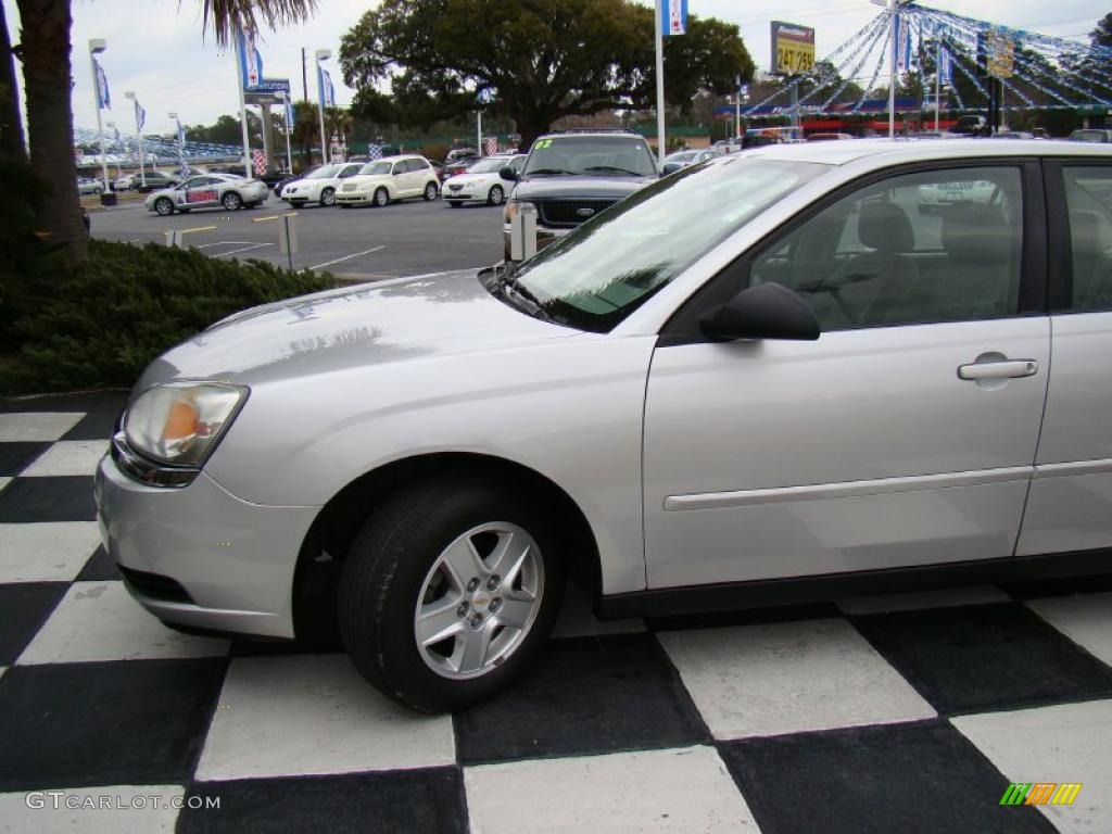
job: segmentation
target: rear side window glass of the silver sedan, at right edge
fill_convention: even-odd
[[[1112,168],[1066,167],[1074,310],[1112,309]]]

